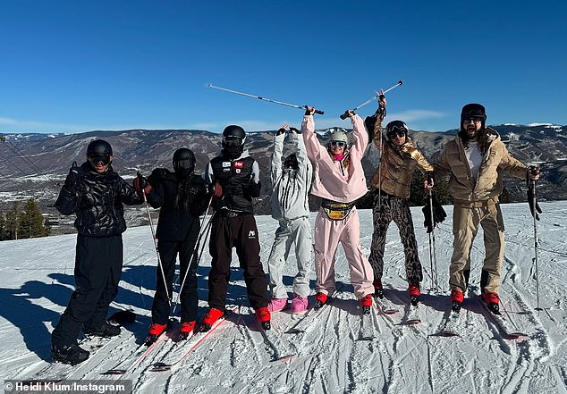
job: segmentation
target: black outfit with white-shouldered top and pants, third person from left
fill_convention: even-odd
[[[260,195],[258,162],[248,151],[233,160],[221,154],[208,163],[205,177],[208,184],[218,182],[223,188],[223,196],[213,198],[212,203],[216,212],[209,241],[212,268],[208,275],[208,306],[224,311],[233,247],[244,270],[250,306],[267,306],[266,274],[260,262],[252,205],[252,197]]]

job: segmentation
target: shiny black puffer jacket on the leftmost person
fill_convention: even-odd
[[[80,169],[80,180],[74,186],[65,182],[55,208],[61,214],[77,215],[75,228],[80,235],[122,234],[126,231],[123,204],[138,205],[144,197],[114,172],[112,165],[104,173],[94,172],[88,162]]]

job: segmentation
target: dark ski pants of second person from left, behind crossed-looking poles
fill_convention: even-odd
[[[154,296],[154,304],[152,306],[153,323],[165,324],[169,319],[170,305],[167,295],[169,295],[170,299],[173,298],[173,275],[175,273],[175,262],[178,254],[180,286],[183,284],[182,281],[185,277],[185,272],[187,272],[187,268],[189,267],[189,272],[187,272],[187,277],[179,297],[182,313],[181,321],[194,322],[197,320],[197,307],[199,303],[199,299],[197,298],[197,265],[199,262],[197,258],[192,258],[196,243],[197,239],[186,241],[159,239],[157,241],[157,250],[159,251],[159,258],[164,267],[164,273],[161,272],[159,265],[157,265],[156,295]],[[167,291],[165,291],[165,283],[167,283]]]

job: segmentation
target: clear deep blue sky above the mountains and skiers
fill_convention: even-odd
[[[558,1],[0,0],[0,132],[317,128],[398,80],[386,121],[449,130],[567,124],[567,5]],[[359,113],[371,114],[373,102]]]

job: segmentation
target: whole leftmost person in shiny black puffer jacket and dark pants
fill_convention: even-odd
[[[100,337],[120,333],[106,322],[108,306],[118,292],[123,265],[123,204],[141,204],[143,196],[113,171],[113,151],[96,139],[87,147],[87,161],[73,163],[55,202],[61,214],[76,214],[77,251],[71,300],[51,335],[54,361],[76,365],[89,358],[79,347],[79,331]]]

